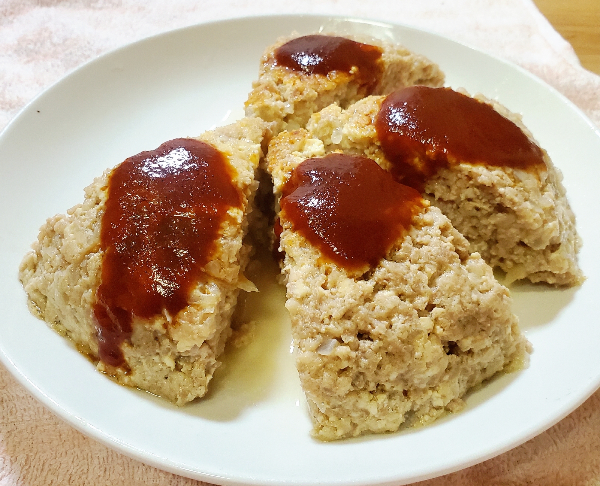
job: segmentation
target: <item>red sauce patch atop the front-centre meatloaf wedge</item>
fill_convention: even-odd
[[[307,159],[284,186],[281,219],[346,270],[376,266],[427,203],[367,157]]]

